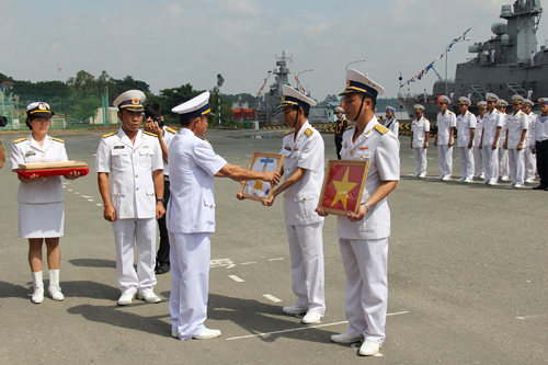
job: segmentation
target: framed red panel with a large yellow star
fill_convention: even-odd
[[[318,207],[338,216],[357,214],[369,163],[368,160],[329,160]]]

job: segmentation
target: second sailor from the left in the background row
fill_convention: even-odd
[[[447,110],[450,99],[446,95],[439,96],[439,113],[437,113],[437,135],[434,146],[437,147],[437,162],[442,174],[437,176],[443,181],[450,180],[453,174],[453,144],[457,116]]]

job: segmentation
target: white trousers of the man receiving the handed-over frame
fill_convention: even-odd
[[[310,225],[286,225],[296,306],[321,315],[326,313],[322,228],[323,220]]]

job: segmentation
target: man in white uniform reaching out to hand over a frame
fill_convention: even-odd
[[[215,232],[214,176],[232,180],[263,180],[276,184],[273,171],[250,171],[227,163],[204,139],[209,110],[209,92],[178,105],[181,129],[168,150],[171,199],[168,231],[171,264],[171,335],[181,340],[213,339],[219,330],[204,326],[209,287],[209,233]]]

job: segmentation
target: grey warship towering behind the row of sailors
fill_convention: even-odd
[[[516,0],[513,5],[502,5],[503,21],[491,26],[490,39],[468,47],[476,57],[457,65],[455,79],[436,81],[426,100],[423,94],[398,96],[407,114],[413,116],[413,105],[421,103],[425,116],[435,121],[438,96],[450,95],[452,91],[453,110],[458,112],[459,96],[471,95],[472,113],[478,112],[477,103],[486,100],[488,92],[509,102],[514,94],[527,98],[529,87],[533,100],[548,95],[548,50],[543,45],[537,52],[536,38],[541,14],[540,0]]]

